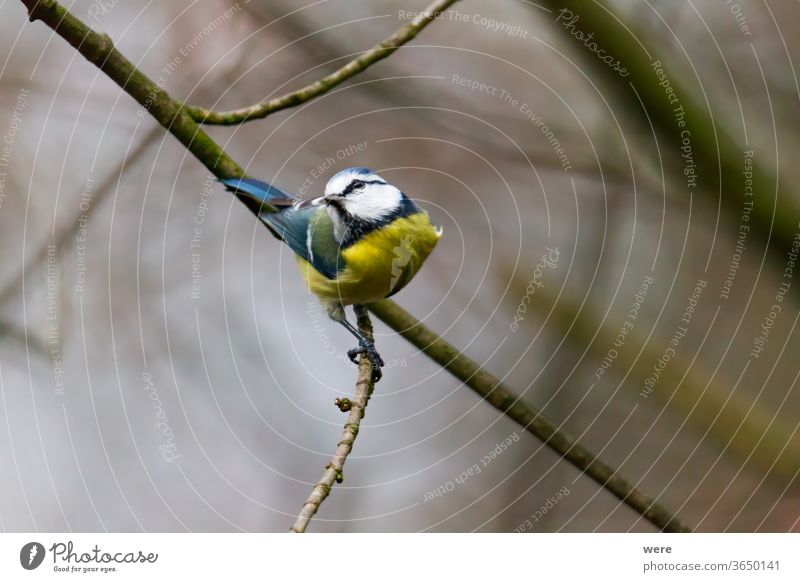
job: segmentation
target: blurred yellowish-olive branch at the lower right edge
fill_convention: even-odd
[[[515,281],[520,290],[527,284],[519,277]],[[617,378],[619,386],[627,389],[644,386],[662,355],[654,346],[661,345],[659,340],[663,338],[645,337],[635,328],[628,330],[616,313],[605,316],[595,313],[592,305],[596,302],[591,298],[580,304],[566,293],[556,297],[548,286],[538,289],[537,295],[537,301],[530,306],[539,322],[553,326],[559,337],[587,353],[587,363],[597,366],[593,372],[601,370],[604,376],[606,369],[610,369],[609,376]],[[534,327],[534,321],[528,321],[528,326]],[[608,356],[609,346],[618,346],[613,358]],[[623,377],[614,370],[620,370]],[[723,381],[720,377],[724,372],[704,370],[696,357],[675,355],[660,374],[659,382],[666,390],[647,391],[644,397],[652,395],[663,402],[665,411],[683,420],[681,428],[688,422],[701,439],[710,436],[720,446],[730,447],[743,461],[752,458],[767,474],[775,471],[784,478],[794,479],[800,472],[796,428],[763,410],[759,394],[753,395],[738,383],[731,386],[728,379]],[[598,381],[600,377],[596,376]],[[568,376],[564,381],[569,380]],[[636,396],[642,397],[641,393]]]

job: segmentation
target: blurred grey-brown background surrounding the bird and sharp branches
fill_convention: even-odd
[[[425,5],[70,3],[173,96],[217,109],[299,88]],[[611,6],[796,182],[796,3]],[[445,230],[402,306],[698,530],[797,530],[796,288],[750,357],[786,264],[750,236],[721,298],[739,225],[682,176],[662,181],[652,136],[552,17],[514,1],[453,11],[332,93],[210,133],[306,196],[342,168],[380,171]],[[0,12],[0,527],[286,531],[339,439],[351,338],[174,138],[21,3]],[[389,365],[313,531],[652,530],[376,332]]]

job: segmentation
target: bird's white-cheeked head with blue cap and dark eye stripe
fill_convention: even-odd
[[[347,239],[419,210],[398,188],[367,168],[347,168],[334,175],[325,186],[322,202],[328,207],[337,239],[345,244],[353,242]]]

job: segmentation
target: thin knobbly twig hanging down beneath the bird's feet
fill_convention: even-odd
[[[362,333],[369,339],[372,339],[372,322],[369,320],[369,313],[363,305],[355,306],[356,315],[358,316],[358,327]],[[339,445],[336,447],[336,452],[331,458],[331,462],[325,467],[325,473],[319,483],[314,485],[311,490],[311,495],[303,504],[300,514],[297,516],[292,526],[291,531],[294,533],[303,533],[306,531],[311,518],[319,510],[319,506],[325,501],[325,498],[330,495],[334,483],[341,483],[344,478],[342,471],[344,470],[344,463],[350,451],[353,450],[358,430],[361,426],[361,419],[364,418],[364,412],[369,402],[369,397],[372,395],[374,384],[372,382],[372,367],[373,364],[366,354],[361,354],[361,359],[358,362],[358,379],[356,380],[356,393],[352,400],[345,399],[344,401],[337,401],[337,406],[340,410],[348,411],[347,422],[342,429],[342,438],[339,440]],[[344,403],[347,403],[346,405]]]

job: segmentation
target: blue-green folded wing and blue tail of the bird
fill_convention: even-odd
[[[329,279],[344,269],[333,222],[323,206],[301,202],[266,182],[250,178],[221,180],[276,237]]]

